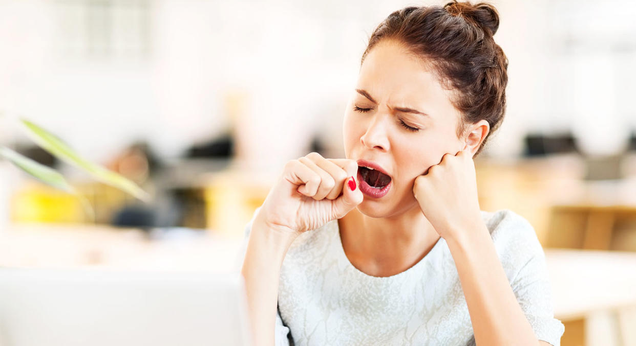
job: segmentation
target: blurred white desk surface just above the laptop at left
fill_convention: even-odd
[[[238,270],[241,237],[215,235],[209,230],[171,230],[147,234],[104,225],[12,225],[0,230],[0,267]]]

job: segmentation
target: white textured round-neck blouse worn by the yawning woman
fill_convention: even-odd
[[[254,216],[260,207],[254,212]],[[249,235],[252,220],[245,226]],[[560,345],[543,248],[511,210],[481,216],[508,281],[539,340]],[[275,345],[474,345],[455,262],[443,238],[389,277],[364,274],[342,248],[338,220],[291,244],[280,270]]]

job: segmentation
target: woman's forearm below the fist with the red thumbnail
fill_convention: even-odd
[[[252,223],[241,274],[254,345],[273,345],[280,266],[293,241],[266,227],[258,216]]]

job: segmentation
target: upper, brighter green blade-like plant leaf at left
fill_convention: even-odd
[[[44,130],[40,126],[32,123],[31,121],[20,119],[29,136],[38,143],[40,147],[50,152],[53,156],[58,157],[66,163],[73,164],[82,170],[85,170],[93,178],[100,182],[106,183],[118,189],[121,189],[132,196],[148,202],[150,197],[148,193],[142,190],[137,184],[121,176],[113,171],[106,170],[98,164],[94,164],[79,156],[69,145],[62,142],[60,138],[53,135],[49,131]]]

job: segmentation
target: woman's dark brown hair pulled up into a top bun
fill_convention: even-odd
[[[439,81],[456,91],[453,105],[462,116],[457,138],[469,124],[485,119],[490,125],[486,140],[504,118],[508,58],[493,39],[499,13],[487,3],[406,7],[389,15],[373,31],[364,58],[382,39],[395,39],[414,57],[430,64]]]

